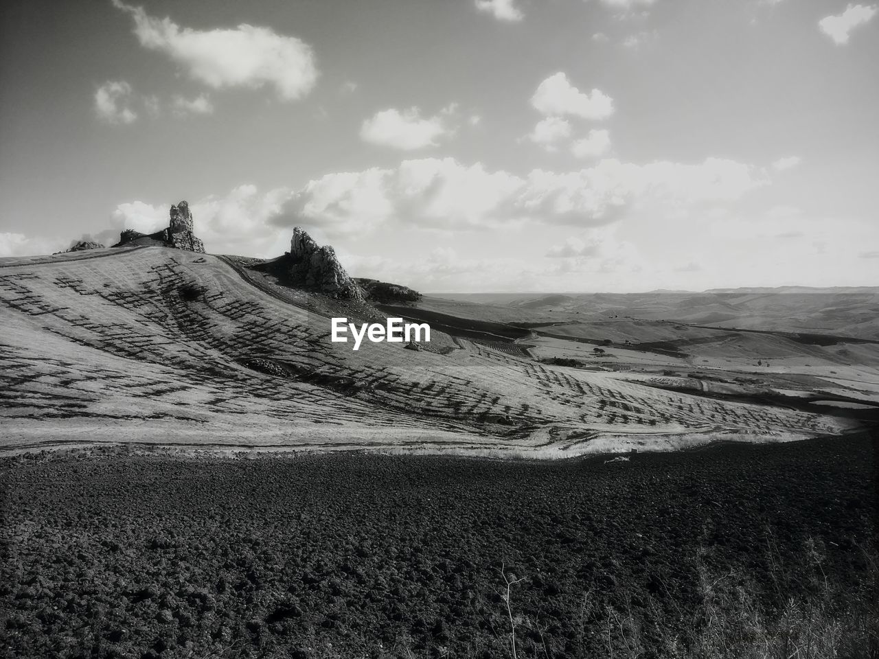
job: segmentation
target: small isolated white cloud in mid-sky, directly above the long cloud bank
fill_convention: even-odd
[[[412,151],[417,148],[435,147],[439,139],[454,133],[447,127],[443,115],[454,112],[454,105],[427,119],[421,118],[417,107],[403,112],[390,108],[376,112],[360,127],[360,138],[382,147]]]

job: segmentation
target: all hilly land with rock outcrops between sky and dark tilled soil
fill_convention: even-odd
[[[422,297],[356,283],[299,229],[278,259],[202,254],[174,208],[114,249],[0,262],[4,450],[124,430],[189,450],[563,458],[845,434],[875,411],[876,289]],[[428,322],[430,342],[330,340],[332,317],[389,316]]]

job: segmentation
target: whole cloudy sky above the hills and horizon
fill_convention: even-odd
[[[11,0],[0,257],[294,227],[425,293],[879,286],[879,7]]]

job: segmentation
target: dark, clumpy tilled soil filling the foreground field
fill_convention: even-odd
[[[0,656],[504,656],[502,564],[520,656],[601,656],[693,624],[700,550],[771,598],[874,540],[866,437],[604,460],[5,459]]]

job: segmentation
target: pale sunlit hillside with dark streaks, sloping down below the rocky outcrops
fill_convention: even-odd
[[[569,455],[844,430],[459,342],[332,344],[218,257],[163,248],[0,263],[0,444]],[[345,315],[340,308],[338,315]]]

